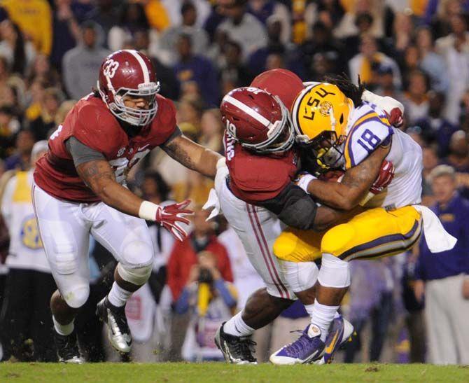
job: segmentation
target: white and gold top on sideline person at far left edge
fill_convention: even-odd
[[[6,265],[12,268],[50,272],[39,236],[31,200],[33,171],[18,172],[6,183],[1,214],[10,234]]]

